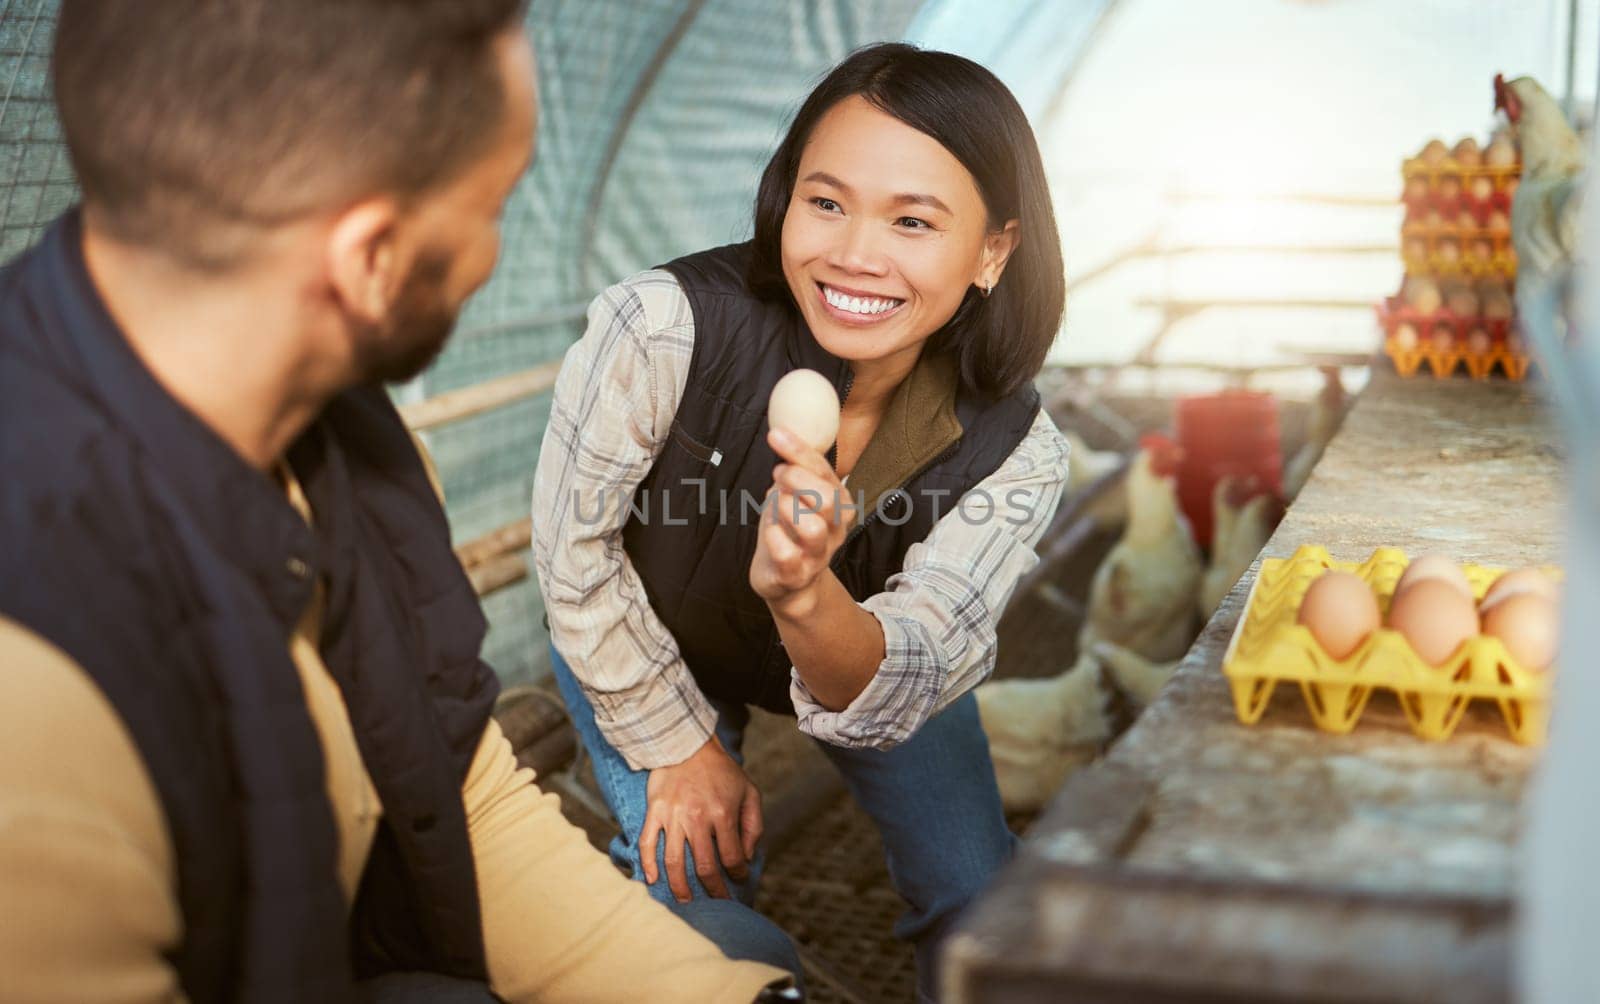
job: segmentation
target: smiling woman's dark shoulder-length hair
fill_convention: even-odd
[[[912,45],[872,45],[822,78],[762,174],[750,289],[763,299],[790,297],[781,241],[800,153],[822,115],[854,96],[926,133],[962,161],[978,182],[990,230],[1019,221],[1016,251],[994,294],[986,299],[968,289],[928,347],[957,355],[971,392],[998,398],[1024,387],[1038,376],[1061,328],[1067,297],[1061,238],[1034,129],[1011,91],[971,59]]]

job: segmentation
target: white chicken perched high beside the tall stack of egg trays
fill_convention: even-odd
[[[1522,147],[1522,181],[1510,201],[1518,291],[1546,289],[1566,278],[1578,254],[1584,145],[1533,77],[1507,83],[1496,75],[1494,107]]]

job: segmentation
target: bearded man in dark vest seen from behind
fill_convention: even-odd
[[[518,0],[66,0],[0,273],[6,999],[750,1001],[490,718],[381,384],[490,275]],[[411,996],[406,996],[411,994]]]

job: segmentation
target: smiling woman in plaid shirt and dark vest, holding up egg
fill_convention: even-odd
[[[802,106],[752,241],[595,301],[555,387],[534,560],[613,857],[656,898],[754,900],[739,740],[749,705],[795,715],[883,835],[933,996],[944,930],[1013,846],[971,687],[1061,499],[1032,380],[1062,299],[1016,101],[974,62],[880,45]],[[832,444],[763,420],[795,369],[838,393]],[[750,910],[704,930],[792,964]]]

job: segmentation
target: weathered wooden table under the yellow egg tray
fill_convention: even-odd
[[[1264,555],[1557,561],[1562,465],[1536,393],[1374,374]],[[950,999],[1507,998],[1536,751],[1493,707],[1419,740],[1386,692],[1349,735],[1318,732],[1294,687],[1240,726],[1221,662],[1253,580],[1035,825],[952,948]]]

